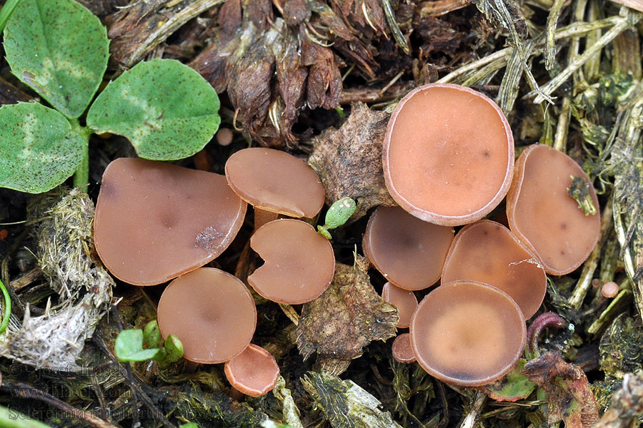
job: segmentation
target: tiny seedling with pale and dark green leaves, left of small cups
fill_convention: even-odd
[[[169,335],[163,341],[159,324],[154,320],[148,322],[143,330],[121,331],[114,342],[114,353],[121,362],[155,360],[164,369],[183,357],[183,344],[175,335]]]

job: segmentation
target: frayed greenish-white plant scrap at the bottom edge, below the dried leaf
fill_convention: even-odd
[[[378,409],[382,403],[377,398],[352,380],[308,372],[301,383],[333,428],[402,428],[389,412]]]

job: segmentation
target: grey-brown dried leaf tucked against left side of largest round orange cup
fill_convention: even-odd
[[[355,103],[339,129],[329,128],[314,138],[309,165],[321,177],[329,205],[348,196],[357,201],[352,220],[375,205],[395,205],[382,174],[382,141],[389,115]]]

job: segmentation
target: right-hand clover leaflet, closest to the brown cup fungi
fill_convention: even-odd
[[[219,128],[219,97],[179,61],[138,63],[109,83],[87,113],[87,126],[131,141],[141,158],[171,161],[194,155]]]

